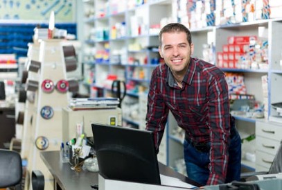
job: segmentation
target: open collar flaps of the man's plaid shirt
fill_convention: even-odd
[[[191,85],[193,76],[195,74],[195,60],[191,58],[190,63],[188,65],[188,69],[186,71],[186,74],[183,78],[183,82],[187,83],[188,85]],[[166,77],[166,81],[170,87],[173,87],[175,84],[175,78],[173,77],[173,73],[170,70],[170,67],[168,67],[168,76]]]

